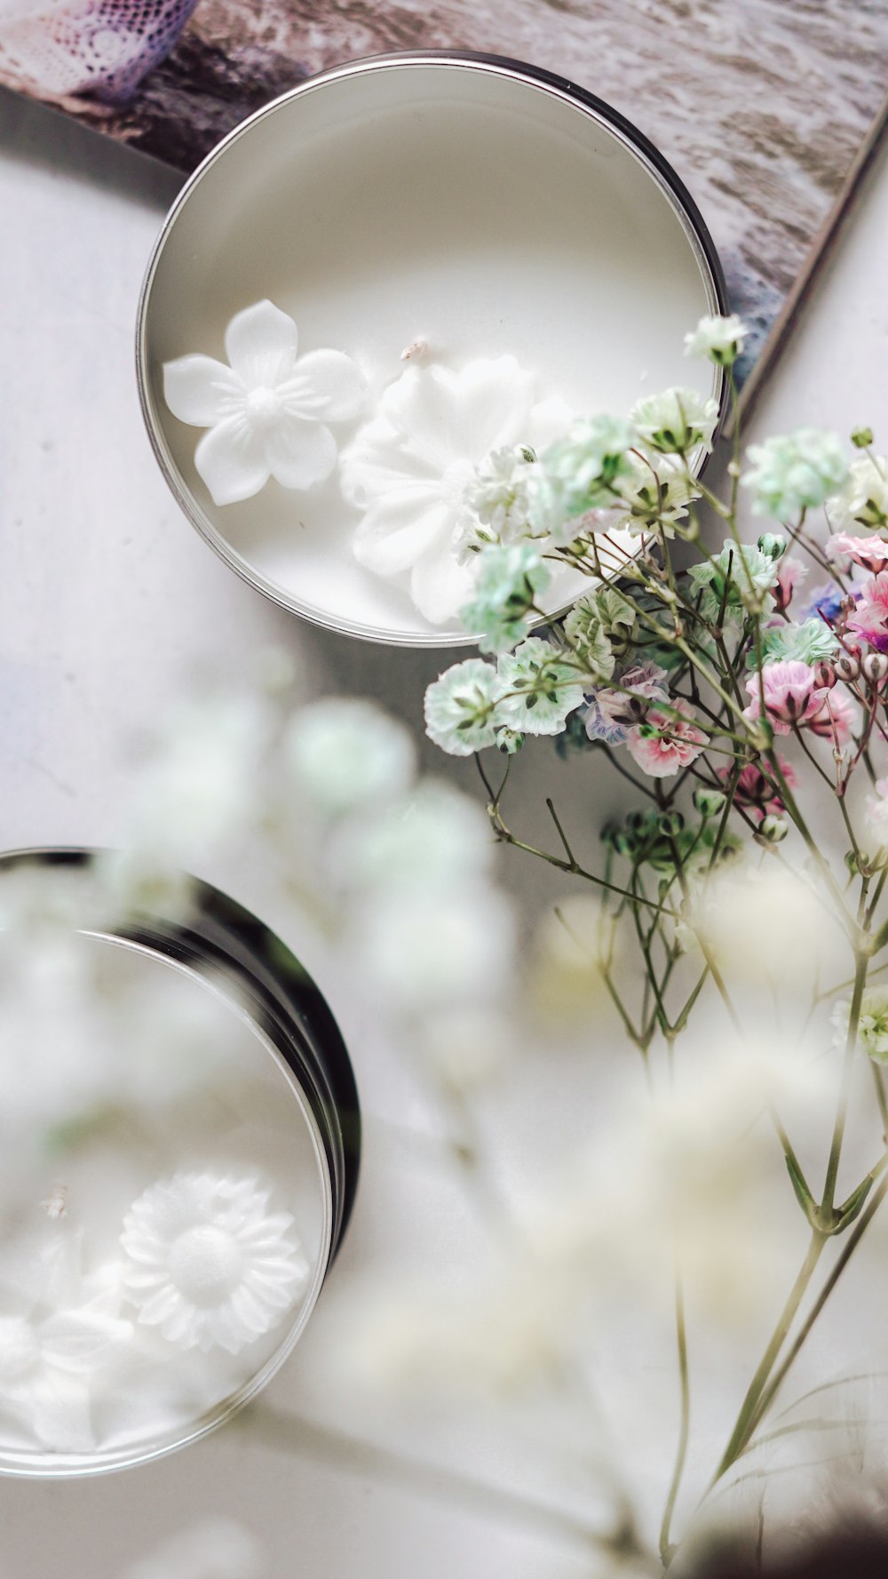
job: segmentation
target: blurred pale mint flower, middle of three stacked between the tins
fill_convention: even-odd
[[[355,818],[333,846],[333,867],[350,887],[451,889],[489,872],[491,823],[445,778],[421,778],[402,801]]]

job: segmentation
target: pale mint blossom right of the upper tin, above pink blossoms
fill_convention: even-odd
[[[752,464],[740,480],[752,489],[752,510],[776,521],[795,521],[823,504],[849,475],[842,441],[820,428],[797,428],[751,444],[746,455]]]

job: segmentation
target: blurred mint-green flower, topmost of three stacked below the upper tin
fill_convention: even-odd
[[[372,701],[328,696],[293,714],[284,736],[293,782],[330,816],[404,794],[415,759],[410,733]]]

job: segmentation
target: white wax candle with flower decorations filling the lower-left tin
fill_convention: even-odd
[[[317,1298],[330,1175],[229,979],[0,941],[0,1468],[134,1462],[227,1412]]]

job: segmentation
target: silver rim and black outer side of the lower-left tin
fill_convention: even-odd
[[[0,854],[0,873],[14,868],[87,873],[90,850],[24,850]],[[8,1451],[0,1442],[0,1475],[69,1478],[128,1468],[177,1451],[207,1435],[248,1404],[278,1372],[311,1320],[326,1271],[342,1243],[352,1213],[361,1154],[361,1116],[353,1069],[333,1014],[320,990],[285,947],[256,916],[207,883],[194,883],[188,919],[140,916],[126,925],[96,925],[87,919],[85,938],[112,943],[156,958],[186,977],[205,982],[251,1026],[251,1034],[282,1072],[297,1099],[293,1135],[308,1123],[311,1148],[326,1205],[320,1235],[320,1262],[306,1295],[304,1311],[293,1314],[271,1352],[243,1385],[196,1418],[183,1421],[158,1440],[139,1438],[132,1446],[90,1453]],[[297,1118],[297,1105],[301,1120]],[[44,1203],[46,1205],[46,1203]]]

